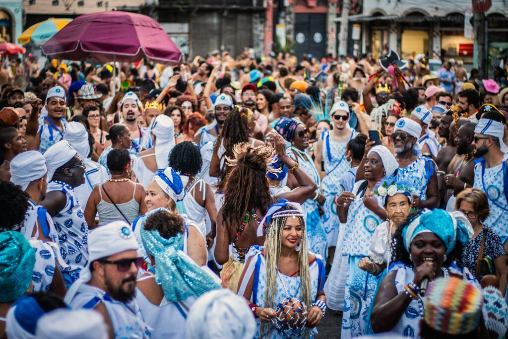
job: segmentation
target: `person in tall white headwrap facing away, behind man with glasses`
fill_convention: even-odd
[[[76,198],[78,198],[82,206],[86,206],[86,202],[93,188],[106,182],[108,173],[104,166],[89,158],[90,143],[88,142],[88,132],[81,122],[69,122],[65,133],[63,133],[63,140],[69,141],[86,165],[85,183],[74,189]]]

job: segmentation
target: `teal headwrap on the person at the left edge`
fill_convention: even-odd
[[[0,233],[0,302],[22,296],[30,286],[35,252],[20,232]]]

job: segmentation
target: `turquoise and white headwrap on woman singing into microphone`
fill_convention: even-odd
[[[433,209],[413,219],[402,230],[404,248],[410,252],[411,242],[424,232],[434,233],[444,242],[446,254],[449,254],[457,241],[466,243],[473,236],[473,229],[467,218],[459,211],[447,212]]]

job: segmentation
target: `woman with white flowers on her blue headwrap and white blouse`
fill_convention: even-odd
[[[390,183],[389,183],[390,182]],[[403,223],[411,210],[412,189],[395,181],[385,181],[374,191],[382,202],[388,219],[379,224],[372,235],[370,253],[358,263],[360,271],[349,286],[351,310],[350,317],[342,318],[342,337],[353,337],[369,332],[369,316],[372,301],[379,281],[386,275],[390,266],[390,243],[397,227]],[[350,335],[347,335],[350,334]]]

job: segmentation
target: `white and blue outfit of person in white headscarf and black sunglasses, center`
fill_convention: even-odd
[[[358,133],[351,132],[350,140],[353,139]],[[340,191],[340,178],[351,169],[350,163],[346,161],[345,151],[348,141],[335,142],[330,137],[329,131],[324,131],[321,135],[323,140],[323,162],[326,176],[323,178],[321,188],[323,195],[326,198],[323,208],[323,227],[326,232],[328,247],[337,244],[337,237],[339,234],[340,221],[337,216],[337,206],[333,202],[333,198]]]

